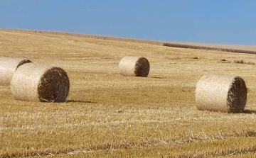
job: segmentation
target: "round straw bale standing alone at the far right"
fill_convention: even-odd
[[[241,77],[206,74],[196,85],[198,110],[242,113],[247,99],[247,88]]]

